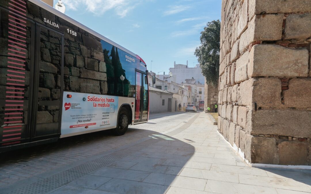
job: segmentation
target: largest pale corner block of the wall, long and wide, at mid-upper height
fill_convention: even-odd
[[[248,77],[307,77],[309,52],[306,48],[287,48],[274,44],[252,47]]]

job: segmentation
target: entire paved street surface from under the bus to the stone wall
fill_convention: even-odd
[[[1,155],[0,193],[311,193],[311,170],[248,166],[208,115],[151,115],[109,132]]]

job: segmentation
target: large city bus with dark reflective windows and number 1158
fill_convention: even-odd
[[[44,2],[1,0],[0,152],[146,123],[147,72],[141,57]]]

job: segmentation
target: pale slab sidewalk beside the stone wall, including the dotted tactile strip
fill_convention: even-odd
[[[0,193],[311,192],[310,170],[249,167],[207,114],[184,114],[188,119],[176,127],[150,131],[146,138],[29,178]]]

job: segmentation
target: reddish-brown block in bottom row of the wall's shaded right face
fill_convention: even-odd
[[[308,165],[308,143],[285,141],[278,145],[280,165]]]

